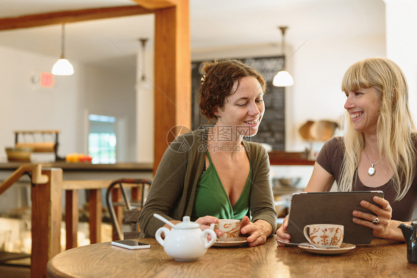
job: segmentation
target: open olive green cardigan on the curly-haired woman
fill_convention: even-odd
[[[203,173],[208,129],[178,136],[166,149],[152,180],[146,202],[139,217],[143,236],[155,236],[164,223],[153,216],[158,213],[168,220],[182,220],[192,215],[197,181]],[[269,178],[268,153],[260,144],[243,141],[252,164],[252,184],[248,215],[252,222],[263,219],[276,230],[277,214]],[[191,219],[195,221],[196,219]]]

